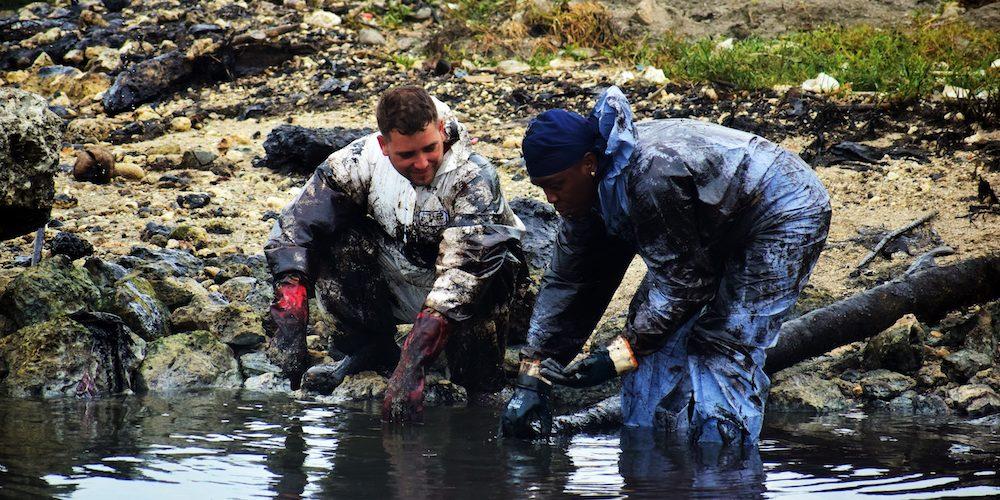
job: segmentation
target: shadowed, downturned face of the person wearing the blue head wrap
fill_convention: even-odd
[[[597,200],[597,160],[592,153],[576,165],[545,177],[532,177],[531,183],[545,191],[545,199],[567,218],[586,214]]]

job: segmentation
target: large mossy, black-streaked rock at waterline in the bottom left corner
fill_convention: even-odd
[[[114,315],[74,318],[37,323],[0,339],[0,392],[54,397],[132,389],[146,343]]]

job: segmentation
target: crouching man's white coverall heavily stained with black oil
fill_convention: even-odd
[[[314,283],[337,321],[341,352],[374,343],[398,353],[396,325],[430,308],[454,325],[445,348],[452,380],[494,392],[524,226],[466,128],[434,101],[449,149],[430,185],[399,174],[377,133],[360,138],[330,155],[285,207],[265,255],[273,275]]]

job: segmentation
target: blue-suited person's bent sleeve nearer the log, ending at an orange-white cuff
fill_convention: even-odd
[[[697,190],[676,157],[659,157],[635,176],[630,216],[646,263],[644,286],[632,299],[626,338],[638,356],[659,350],[715,294],[718,271],[702,241]]]

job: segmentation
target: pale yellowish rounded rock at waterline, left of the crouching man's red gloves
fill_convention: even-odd
[[[206,331],[164,337],[147,345],[139,368],[141,386],[153,392],[241,386],[232,349]]]

